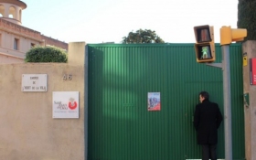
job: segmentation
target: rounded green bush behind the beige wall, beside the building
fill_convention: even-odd
[[[67,63],[67,52],[56,47],[35,47],[26,53],[25,62],[59,62]]]

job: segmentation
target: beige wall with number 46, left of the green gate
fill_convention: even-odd
[[[84,160],[87,157],[85,43],[69,43],[69,46],[69,63],[0,65],[0,159]],[[82,62],[75,61],[78,57]],[[21,91],[22,74],[47,74],[48,91]],[[63,80],[65,74],[72,74],[72,79]],[[79,91],[78,119],[52,118],[53,91]]]

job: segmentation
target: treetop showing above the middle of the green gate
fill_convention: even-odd
[[[165,43],[165,41],[155,34],[155,30],[139,29],[136,32],[129,32],[127,37],[123,37],[123,44],[133,43]]]

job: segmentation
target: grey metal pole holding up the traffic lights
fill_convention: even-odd
[[[225,160],[232,160],[231,91],[229,69],[229,45],[221,46],[224,94]]]

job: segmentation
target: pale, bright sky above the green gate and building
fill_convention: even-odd
[[[193,27],[237,28],[238,0],[21,0],[22,26],[60,41],[121,43],[129,32],[155,30],[166,43],[195,43]]]

